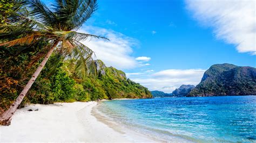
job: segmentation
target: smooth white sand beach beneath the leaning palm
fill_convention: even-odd
[[[128,129],[114,130],[113,125],[97,120],[91,114],[96,105],[75,102],[26,106],[16,111],[10,126],[0,126],[0,142],[157,142]]]

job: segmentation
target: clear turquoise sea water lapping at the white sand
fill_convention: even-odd
[[[98,110],[161,140],[256,142],[256,96],[105,101]]]

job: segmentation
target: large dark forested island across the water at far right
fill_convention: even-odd
[[[224,63],[211,66],[187,96],[256,95],[256,68]]]

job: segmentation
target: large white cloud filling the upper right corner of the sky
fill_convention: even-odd
[[[238,52],[256,54],[256,1],[186,0],[186,5],[201,24],[213,27],[218,39],[234,44]]]

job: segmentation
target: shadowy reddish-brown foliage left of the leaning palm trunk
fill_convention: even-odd
[[[35,71],[37,64],[30,62],[41,52],[37,47],[44,45],[41,42],[31,48],[0,47],[0,113],[9,108]],[[27,99],[23,103],[28,103]]]

